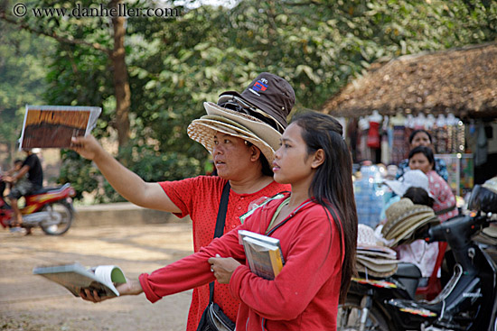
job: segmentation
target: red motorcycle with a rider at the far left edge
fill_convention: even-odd
[[[75,195],[74,188],[66,183],[57,188],[42,188],[25,196],[25,206],[20,208],[23,227],[40,226],[45,234],[65,234],[74,217],[72,197]],[[4,228],[10,227],[12,216],[12,207],[0,196],[0,224]]]

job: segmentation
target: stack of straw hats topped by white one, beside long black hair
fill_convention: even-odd
[[[357,271],[373,277],[386,278],[397,271],[397,263],[397,253],[378,243],[370,226],[358,225],[355,260]]]

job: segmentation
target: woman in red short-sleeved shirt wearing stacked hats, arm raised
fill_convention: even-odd
[[[276,75],[258,75],[241,93],[228,91],[218,104],[204,103],[207,115],[192,121],[189,136],[211,152],[218,176],[145,182],[105,152],[92,136],[75,138],[74,150],[97,164],[117,192],[141,206],[190,216],[193,252],[211,243],[222,190],[230,183],[230,197],[224,223],[227,233],[240,225],[239,216],[254,202],[290,189],[273,179],[270,164],[286,127],[286,117],[295,104],[290,84]],[[209,286],[193,290],[187,331],[195,331],[209,303]],[[234,321],[239,300],[227,285],[216,284],[213,301]]]

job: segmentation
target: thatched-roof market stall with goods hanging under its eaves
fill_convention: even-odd
[[[322,111],[343,117],[357,163],[399,164],[409,134],[427,130],[463,196],[497,174],[497,43],[375,62]]]

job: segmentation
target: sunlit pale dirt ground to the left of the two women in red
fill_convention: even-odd
[[[151,304],[142,294],[98,304],[73,297],[33,267],[59,262],[116,264],[128,278],[154,271],[192,253],[192,225],[73,227],[49,236],[10,234],[0,228],[0,330],[183,331],[192,291]]]

